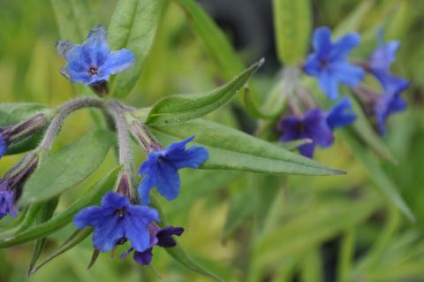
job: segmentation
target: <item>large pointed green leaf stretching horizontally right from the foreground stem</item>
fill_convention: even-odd
[[[332,175],[330,169],[267,141],[212,121],[195,119],[181,125],[150,127],[165,144],[195,135],[193,143],[204,146],[209,158],[203,169],[253,171],[268,174]]]

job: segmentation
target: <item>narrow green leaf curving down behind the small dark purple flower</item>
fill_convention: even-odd
[[[155,197],[152,196],[152,206],[159,212],[159,215],[161,217],[160,225],[167,226],[168,221],[166,219],[165,214],[163,213],[163,210],[161,206],[159,205],[159,202],[155,199]],[[223,281],[223,279],[216,276],[216,274],[205,270],[199,263],[196,263],[193,258],[186,253],[184,248],[182,248],[179,243],[177,242],[177,245],[172,248],[165,248],[166,252],[172,256],[178,263],[183,264],[188,268],[189,270],[195,271],[203,276],[214,278],[216,281]]]

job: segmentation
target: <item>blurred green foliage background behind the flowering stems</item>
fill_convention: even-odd
[[[268,59],[254,76],[257,92],[265,98],[280,66],[273,47],[270,1],[251,2],[235,1],[239,9],[230,9],[234,4],[226,1],[201,4],[223,27],[246,64],[260,57]],[[89,3],[97,22],[107,26],[116,2]],[[367,57],[375,48],[378,27],[385,29],[386,38],[402,42],[393,72],[412,80],[405,93],[409,107],[390,119],[389,134],[384,138],[398,164],[377,162],[382,163],[416,221],[400,214],[381,194],[375,186],[378,179],[370,176],[341,138],[333,148],[319,150],[316,159],[348,171],[345,176],[276,178],[237,171],[184,171],[182,193],[175,202],[163,202],[165,213],[172,225],[185,227],[180,242],[186,251],[226,281],[424,281],[424,2],[312,3],[315,27],[337,28],[352,19],[352,13],[360,14],[357,31],[363,35],[363,44],[355,57]],[[252,28],[249,22],[259,24]],[[0,1],[0,26],[2,103],[57,106],[76,96],[58,72],[64,61],[56,53],[55,43],[61,38],[49,1]],[[193,33],[185,12],[171,3],[147,65],[126,102],[147,107],[163,95],[216,88],[225,80],[221,73],[216,59]],[[241,116],[243,129],[254,128],[254,120],[246,118],[240,105],[225,107],[209,118],[239,126],[234,112]],[[88,111],[73,114],[55,148],[94,127]],[[143,157],[139,155],[137,164]],[[0,172],[18,159],[5,157]],[[110,153],[100,170],[78,190],[107,173],[114,162]],[[69,193],[69,200],[61,200],[59,209],[79,191]],[[45,252],[56,248],[72,228],[51,236]],[[141,267],[131,259],[121,261],[119,249],[114,257],[102,254],[87,271],[90,240],[27,278],[32,248],[28,243],[0,250],[0,281],[209,281],[173,261],[160,248],[155,249],[153,267]]]

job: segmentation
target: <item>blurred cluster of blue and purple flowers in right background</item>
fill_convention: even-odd
[[[330,100],[339,97],[339,85],[344,84],[358,94],[358,99],[367,112],[371,114],[378,131],[383,135],[386,132],[387,118],[406,108],[401,93],[409,87],[409,81],[391,74],[390,65],[396,57],[400,45],[397,41],[384,43],[380,33],[379,46],[366,62],[354,64],[348,60],[351,51],[360,43],[359,34],[346,34],[337,40],[331,41],[331,31],[327,27],[319,27],[314,31],[314,52],[307,57],[303,71],[314,76],[319,86]],[[370,73],[379,81],[381,93],[360,86],[366,73]],[[280,141],[296,141],[310,139],[310,143],[299,147],[303,156],[313,157],[314,147],[330,147],[333,142],[335,128],[349,126],[356,119],[352,111],[352,102],[347,98],[341,99],[328,112],[318,107],[307,109],[303,116],[291,115],[279,122],[282,132]]]

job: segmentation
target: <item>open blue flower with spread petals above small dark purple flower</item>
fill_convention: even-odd
[[[73,218],[79,229],[95,227],[93,245],[96,250],[107,252],[125,240],[137,252],[150,247],[148,226],[159,221],[155,209],[131,204],[125,195],[109,192],[102,199],[100,207],[88,207]]]

